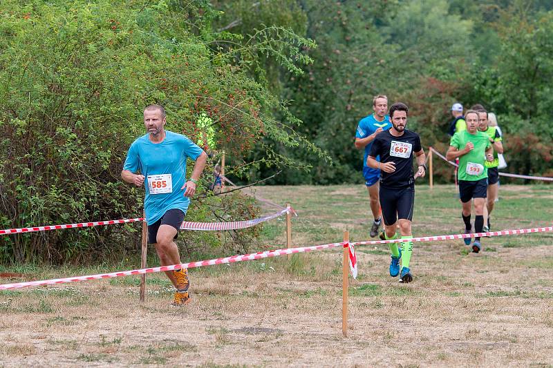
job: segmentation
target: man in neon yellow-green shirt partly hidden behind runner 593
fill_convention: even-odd
[[[503,144],[501,143],[501,136],[499,135],[496,126],[488,126],[487,111],[485,109],[478,110],[478,117],[480,118],[478,130],[488,136],[489,143],[494,147],[494,159],[491,162],[485,162],[485,166],[488,169],[488,190],[486,206],[484,206],[484,219],[486,224],[482,229],[485,233],[487,233],[490,229],[489,215],[491,211],[494,211],[494,204],[499,189],[498,153],[503,153]]]

